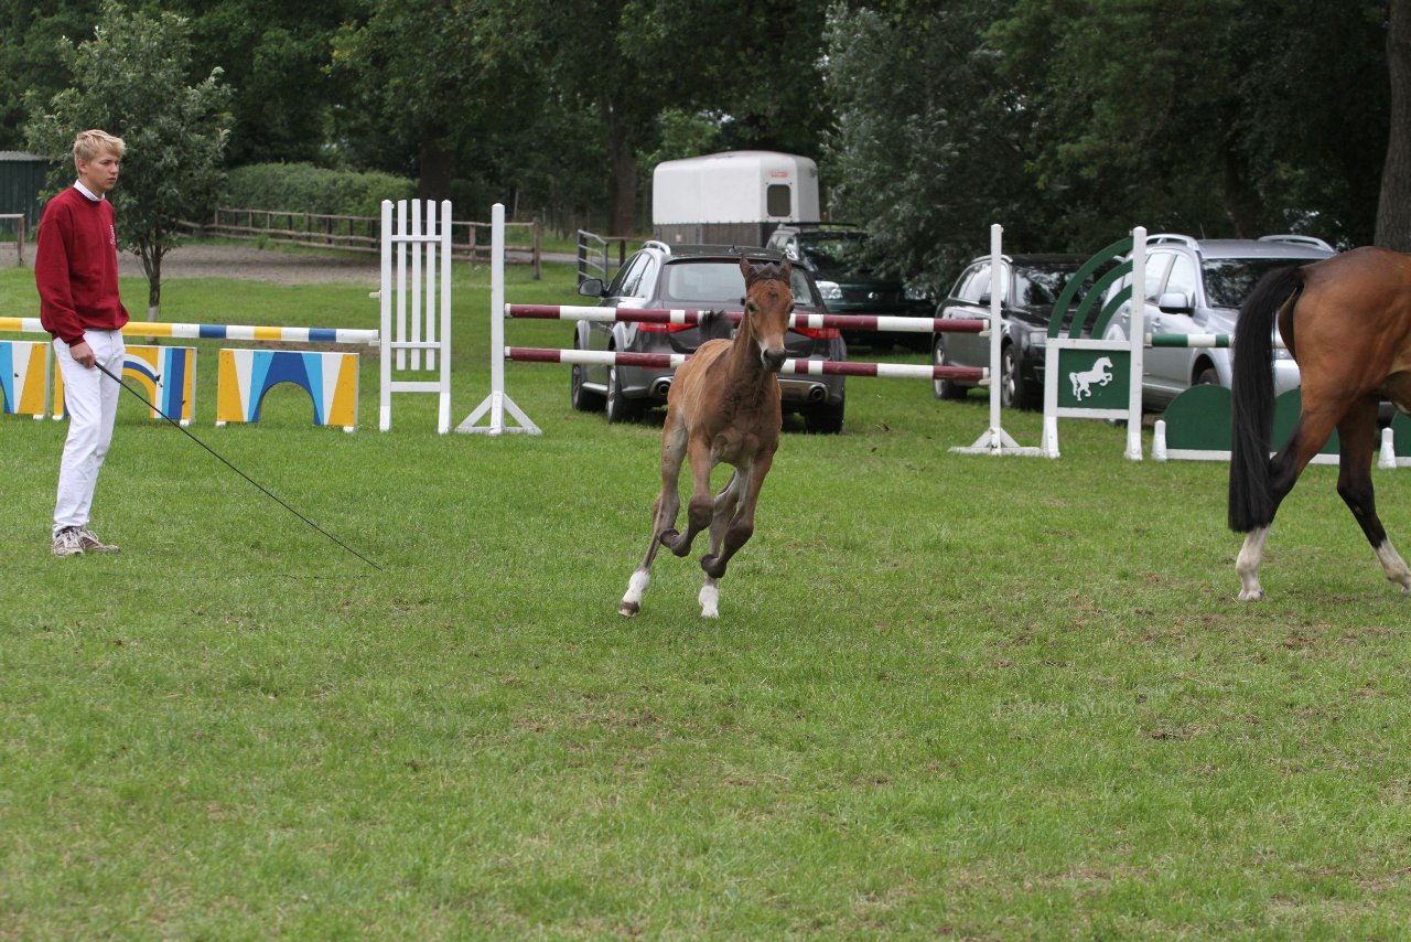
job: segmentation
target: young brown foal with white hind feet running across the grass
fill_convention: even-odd
[[[755,532],[755,504],[765,483],[779,429],[779,367],[785,364],[785,330],[793,311],[789,261],[753,266],[741,257],[745,275],[745,314],[734,340],[707,340],[676,370],[666,394],[662,429],[662,491],[652,510],[652,541],[642,565],[632,573],[618,613],[632,617],[642,609],[642,593],[652,580],[652,559],[659,547],[677,556],[691,551],[696,534],[710,528],[710,552],[701,556],[706,585],[700,592],[701,617],[720,614],[717,583],[725,566]],[[722,316],[722,315],[720,315]],[[676,531],[682,508],[677,482],[682,460],[691,465],[691,500],[686,532]],[[735,467],[725,487],[711,496],[715,465]]]

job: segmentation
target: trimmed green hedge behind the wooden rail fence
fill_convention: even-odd
[[[313,164],[250,164],[230,171],[223,206],[333,216],[380,216],[384,199],[412,199],[416,181]]]

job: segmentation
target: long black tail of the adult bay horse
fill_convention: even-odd
[[[1267,274],[1240,305],[1235,329],[1230,383],[1229,525],[1236,532],[1267,527],[1274,520],[1268,486],[1268,441],[1274,429],[1274,318],[1304,287],[1298,267]]]

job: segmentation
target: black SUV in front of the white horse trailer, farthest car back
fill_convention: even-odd
[[[931,316],[934,301],[919,290],[907,288],[900,278],[886,278],[872,270],[864,246],[868,234],[844,225],[780,226],[769,236],[796,266],[803,266],[818,282],[830,314],[883,316]],[[888,333],[844,330],[848,343],[865,346],[902,345],[924,349],[924,333]]]

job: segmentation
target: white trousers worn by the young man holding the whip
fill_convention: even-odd
[[[113,376],[123,376],[120,330],[85,330],[83,339],[93,347],[99,363]],[[54,504],[54,532],[58,534],[65,527],[89,524],[93,489],[113,441],[113,419],[117,418],[117,394],[121,390],[97,367],[75,363],[69,345],[58,338],[54,339],[54,353],[63,376],[63,405],[69,412],[69,436],[59,462],[59,497]]]

